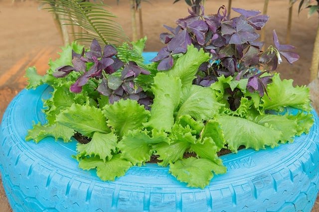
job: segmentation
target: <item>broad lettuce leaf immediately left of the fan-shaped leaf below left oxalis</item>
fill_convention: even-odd
[[[87,105],[72,104],[56,116],[56,121],[91,137],[94,132],[109,133],[102,110]]]

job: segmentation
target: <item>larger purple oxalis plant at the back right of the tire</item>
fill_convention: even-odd
[[[264,27],[269,16],[260,14],[258,10],[232,9],[240,15],[229,19],[225,6],[221,6],[216,14],[209,15],[204,14],[201,6],[200,14],[188,10],[189,16],[177,19],[176,28],[165,26],[170,33],[160,34],[160,40],[167,46],[152,60],[159,62],[158,70],[172,68],[174,54],[185,53],[185,44],[191,43],[211,55],[211,60],[200,66],[194,84],[208,87],[221,75],[233,76],[235,80],[248,79],[247,89],[250,92],[258,91],[263,96],[271,82],[271,75],[264,76],[262,70],[275,70],[281,63],[280,56],[289,63],[298,60],[299,56],[292,51],[293,46],[279,43],[275,31],[275,47],[270,46],[262,51],[264,43],[258,41],[256,31]],[[172,46],[182,51],[174,51]]]

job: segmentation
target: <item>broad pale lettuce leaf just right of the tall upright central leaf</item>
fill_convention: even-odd
[[[207,120],[218,112],[220,106],[222,105],[216,101],[210,88],[184,86],[176,117],[190,115],[196,120]]]

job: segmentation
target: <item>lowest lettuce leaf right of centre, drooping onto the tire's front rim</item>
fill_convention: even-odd
[[[226,167],[218,165],[211,160],[202,158],[187,158],[169,164],[169,173],[188,187],[204,188],[209,185],[213,173],[226,173]]]

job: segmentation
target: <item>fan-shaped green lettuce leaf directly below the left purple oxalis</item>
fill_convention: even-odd
[[[148,121],[150,111],[139,105],[135,100],[120,100],[113,105],[106,105],[103,114],[107,117],[108,126],[123,137],[133,129],[142,129]]]

